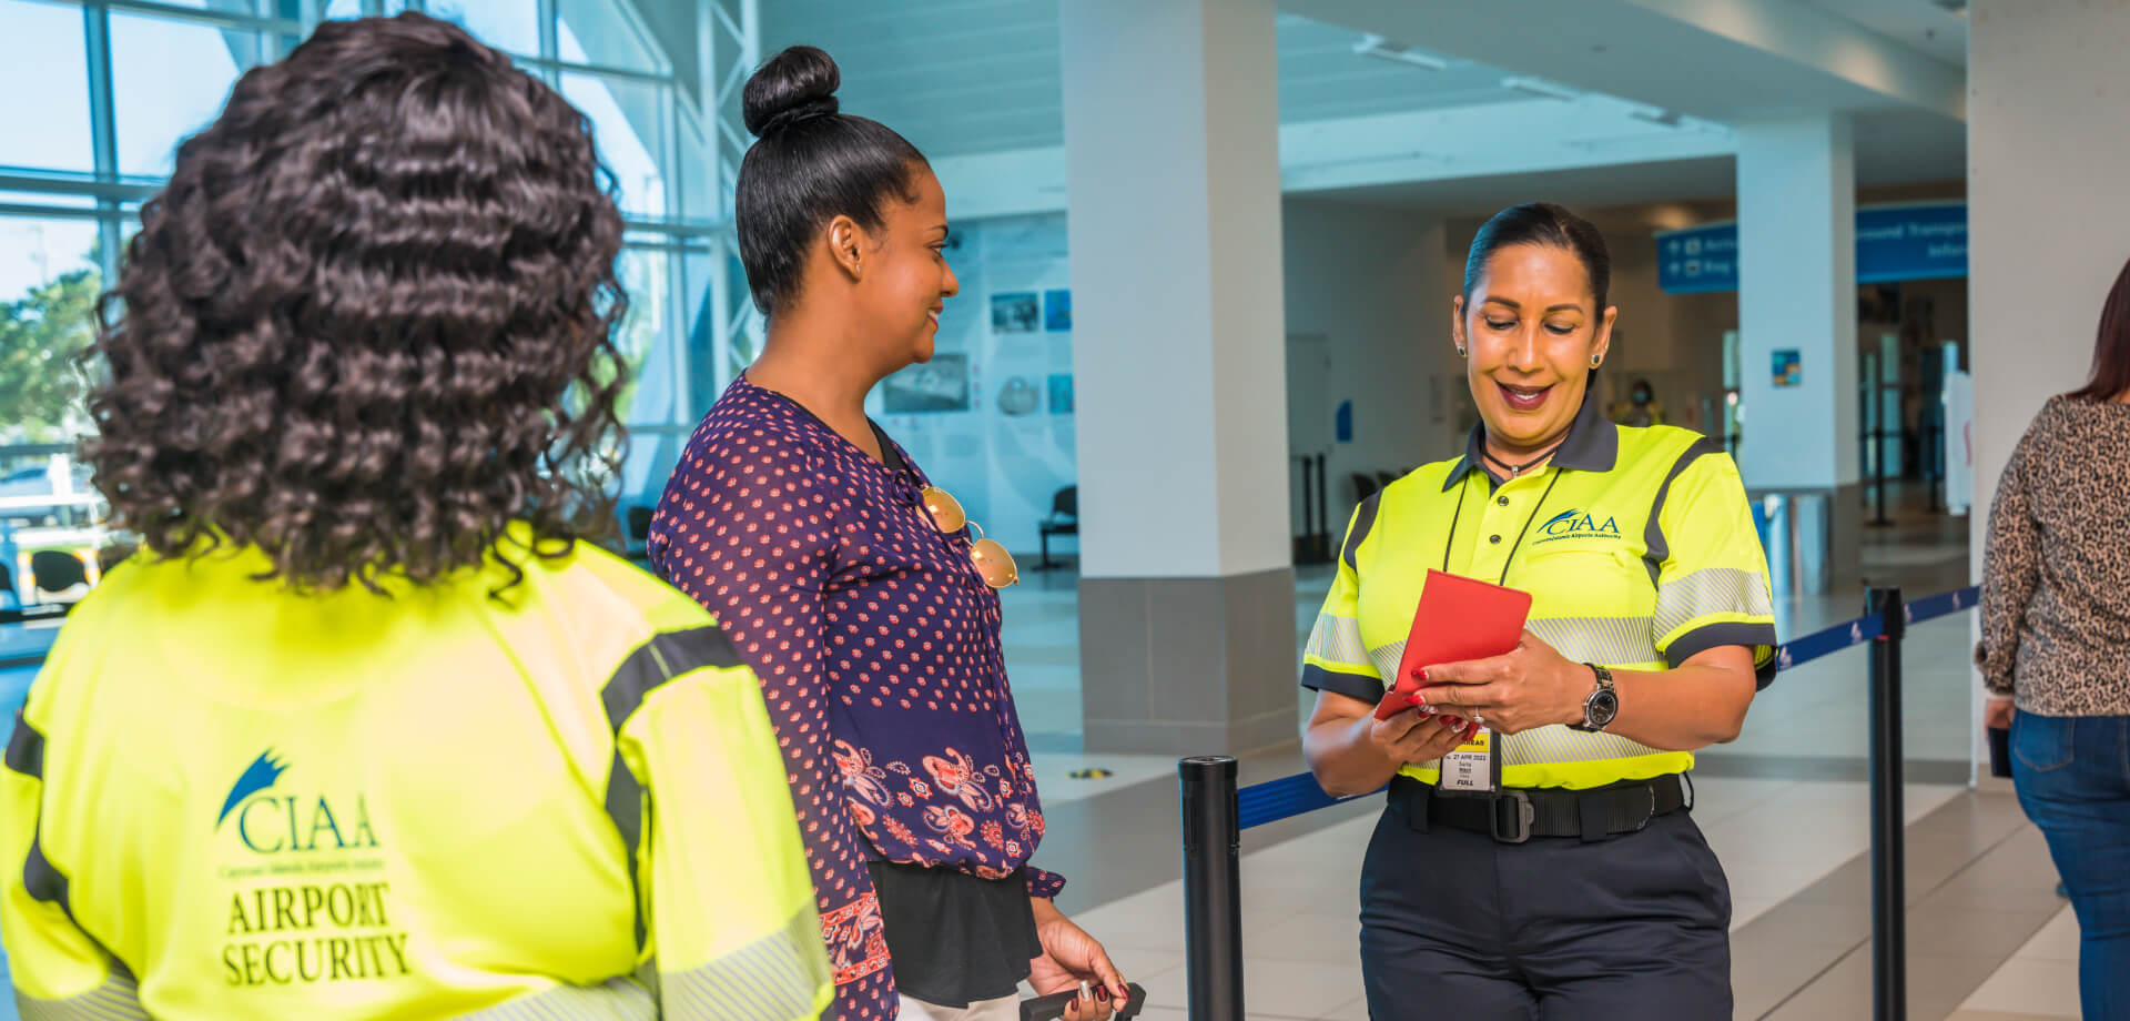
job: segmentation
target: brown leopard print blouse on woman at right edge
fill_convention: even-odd
[[[2013,450],[1975,663],[2021,712],[2130,716],[2130,405],[2055,396]]]

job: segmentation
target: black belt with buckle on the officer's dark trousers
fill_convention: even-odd
[[[1440,825],[1487,833],[1504,844],[1523,844],[1531,838],[1604,840],[1634,833],[1651,819],[1691,808],[1678,774],[1589,791],[1508,789],[1491,797],[1444,797],[1410,776],[1395,776],[1391,804],[1402,806],[1412,827],[1423,833]]]

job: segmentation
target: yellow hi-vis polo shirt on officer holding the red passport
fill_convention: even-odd
[[[1685,428],[1606,422],[1585,401],[1544,469],[1497,480],[1465,454],[1425,465],[1355,509],[1301,684],[1376,703],[1395,682],[1427,569],[1531,593],[1529,631],[1570,661],[1676,667],[1749,646],[1774,678],[1768,556],[1738,467]],[[1693,767],[1615,733],[1566,725],[1500,738],[1504,787],[1604,787]],[[1438,763],[1406,765],[1436,782]]]

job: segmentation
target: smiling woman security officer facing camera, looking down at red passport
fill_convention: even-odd
[[[1768,567],[1721,445],[1587,401],[1608,275],[1555,205],[1480,228],[1453,337],[1482,424],[1355,512],[1310,635],[1310,769],[1391,782],[1361,870],[1378,1021],[1732,1012],[1730,889],[1681,774],[1774,676]],[[1423,665],[1425,703],[1378,723],[1429,567],[1527,590],[1531,616],[1514,652]],[[1455,755],[1485,769],[1451,791],[1440,757],[1480,720]]]

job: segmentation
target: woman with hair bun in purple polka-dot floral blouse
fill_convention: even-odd
[[[694,431],[652,520],[658,571],[754,665],[814,868],[841,1021],[1018,1017],[1016,987],[1125,981],[1033,868],[1044,836],[1005,684],[1014,563],[865,416],[927,362],[946,196],[901,134],[837,113],[837,68],[792,47],[754,72],[739,254],[769,318],[760,358]]]

